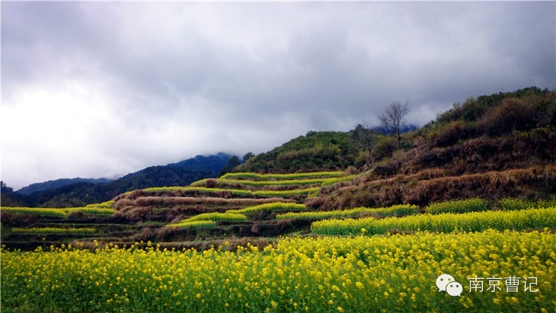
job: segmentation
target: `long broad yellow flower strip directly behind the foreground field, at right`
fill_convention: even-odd
[[[464,214],[444,213],[438,215],[419,214],[403,218],[361,218],[354,220],[318,220],[313,222],[311,230],[317,234],[346,235],[360,234],[365,229],[366,234],[386,234],[392,230],[417,232],[429,230],[432,232],[454,232],[465,230],[482,232],[492,228],[494,230],[527,230],[543,227],[556,227],[556,207],[547,209],[525,209],[521,211],[483,211]]]

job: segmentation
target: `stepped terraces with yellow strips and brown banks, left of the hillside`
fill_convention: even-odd
[[[303,211],[304,201],[318,195],[321,186],[352,178],[343,172],[229,173],[190,186],[131,191],[83,208],[6,207],[1,209],[2,244],[24,250],[90,247],[95,241],[120,246],[152,241],[167,248],[224,241],[231,241],[231,248],[247,241],[265,244],[280,235],[309,232],[311,220],[277,220],[276,215]]]

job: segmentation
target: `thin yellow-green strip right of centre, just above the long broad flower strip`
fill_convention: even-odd
[[[409,204],[394,205],[392,207],[357,207],[354,209],[334,210],[334,211],[312,211],[312,212],[288,212],[284,214],[277,214],[278,219],[322,219],[322,218],[350,218],[355,216],[405,216],[410,214],[417,214],[418,207]]]

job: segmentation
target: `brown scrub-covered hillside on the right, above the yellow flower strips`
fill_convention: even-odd
[[[525,88],[467,99],[404,134],[401,149],[352,182],[321,190],[320,209],[452,198],[556,195],[556,93]]]

